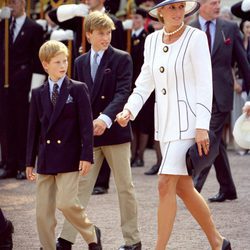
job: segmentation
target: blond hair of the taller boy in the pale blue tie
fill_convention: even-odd
[[[84,28],[86,32],[102,29],[115,30],[115,25],[107,14],[100,11],[93,11],[85,17]]]

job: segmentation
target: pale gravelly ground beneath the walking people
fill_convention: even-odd
[[[229,152],[238,199],[219,204],[209,204],[214,220],[220,232],[231,240],[234,250],[250,249],[250,155],[239,156]],[[154,249],[156,240],[156,208],[157,208],[157,176],[145,176],[144,171],[155,162],[153,150],[147,150],[146,166],[133,168],[134,183],[138,198],[139,226],[143,250]],[[212,169],[204,186],[202,194],[205,199],[218,191]],[[35,225],[35,186],[28,181],[15,179],[0,180],[0,207],[15,226],[14,249],[39,249],[39,240]],[[115,250],[122,243],[119,227],[119,212],[113,179],[109,193],[92,196],[88,215],[102,230],[104,250]],[[167,212],[167,211],[166,211]],[[58,212],[59,232],[62,225],[62,215]],[[80,236],[73,249],[87,249]],[[209,249],[208,242],[199,226],[178,200],[178,212],[169,250],[205,250]]]

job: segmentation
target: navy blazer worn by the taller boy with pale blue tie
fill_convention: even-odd
[[[131,141],[131,128],[122,128],[116,122],[130,94],[133,64],[131,56],[122,50],[109,46],[104,52],[96,72],[95,82],[91,78],[90,51],[75,60],[75,76],[88,85],[93,118],[101,113],[107,115],[113,124],[101,136],[94,137],[94,146],[121,144]]]

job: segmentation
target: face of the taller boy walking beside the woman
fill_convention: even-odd
[[[94,51],[106,50],[111,42],[111,29],[93,30],[87,32],[87,38]]]

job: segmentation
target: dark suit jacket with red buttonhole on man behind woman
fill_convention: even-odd
[[[190,24],[200,29],[199,20]],[[236,23],[216,19],[216,32],[211,55],[213,72],[213,94],[221,112],[233,108],[234,79],[232,66],[237,61],[243,78],[250,84],[250,66]]]

